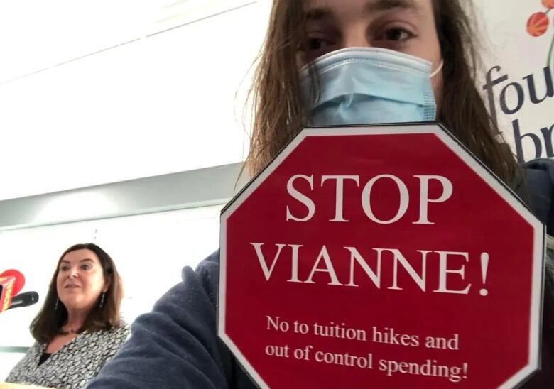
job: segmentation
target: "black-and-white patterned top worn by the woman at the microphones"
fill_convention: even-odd
[[[35,342],[11,370],[6,382],[59,389],[83,388],[116,354],[128,335],[127,325],[111,330],[84,331],[40,366],[40,356],[47,345]]]

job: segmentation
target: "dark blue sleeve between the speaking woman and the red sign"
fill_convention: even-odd
[[[228,388],[231,358],[217,339],[219,253],[161,297],[131,325],[131,338],[87,388]]]

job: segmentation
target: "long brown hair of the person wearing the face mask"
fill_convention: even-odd
[[[479,56],[473,27],[460,0],[432,0],[444,59],[438,120],[504,182],[517,169],[509,146],[494,128],[475,85]],[[264,46],[250,91],[254,105],[250,153],[252,175],[262,170],[303,126],[296,56],[304,44],[303,1],[273,0]]]

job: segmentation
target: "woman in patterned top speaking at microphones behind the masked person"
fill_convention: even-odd
[[[121,278],[94,243],[67,248],[58,260],[42,309],[31,323],[36,343],[7,382],[82,388],[124,343]]]

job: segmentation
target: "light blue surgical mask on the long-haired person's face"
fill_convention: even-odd
[[[313,126],[435,120],[431,63],[382,48],[345,48],[313,62],[320,96],[313,102],[308,65],[300,70],[303,105]]]

